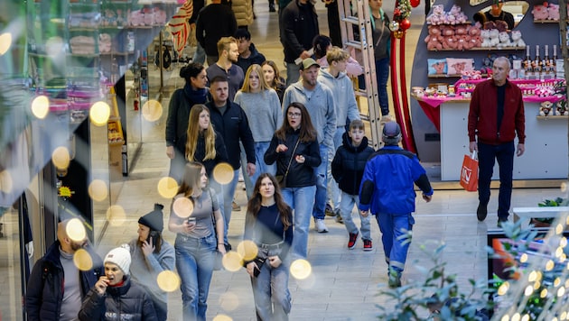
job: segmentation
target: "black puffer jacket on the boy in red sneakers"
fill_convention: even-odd
[[[351,143],[348,133],[342,136],[342,145],[338,147],[331,163],[332,176],[340,189],[350,195],[359,195],[359,184],[363,177],[369,156],[373,148],[368,146],[368,138],[364,137],[359,146]]]

